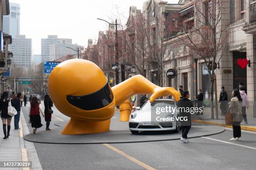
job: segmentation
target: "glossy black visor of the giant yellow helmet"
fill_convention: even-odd
[[[109,83],[97,92],[83,96],[67,96],[67,101],[82,110],[96,110],[109,105],[114,99]]]

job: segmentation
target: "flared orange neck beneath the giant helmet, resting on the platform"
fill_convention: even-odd
[[[102,133],[109,131],[110,119],[102,122],[91,122],[71,118],[62,130],[62,135]]]

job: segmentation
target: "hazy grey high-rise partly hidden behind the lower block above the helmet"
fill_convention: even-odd
[[[67,44],[72,44],[72,39],[67,38],[58,38],[57,35],[48,35],[48,38],[41,39],[41,57],[42,62],[44,61],[53,61],[54,56],[50,54],[50,46],[52,44],[60,43],[61,40],[64,40]]]

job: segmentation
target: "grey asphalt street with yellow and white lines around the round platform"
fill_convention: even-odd
[[[22,107],[22,110],[28,123],[28,106]],[[119,113],[116,112],[112,119],[118,118]],[[63,126],[63,121],[67,120],[69,117],[62,115],[54,107],[50,128],[59,128],[54,124]],[[45,122],[42,122],[44,126],[38,131],[45,130]],[[242,141],[230,142],[232,133],[232,130],[225,129],[225,132],[218,135],[190,139],[187,144],[171,140],[93,145],[34,145],[44,170],[254,170],[256,133],[243,131]]]

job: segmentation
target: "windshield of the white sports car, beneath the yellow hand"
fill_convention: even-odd
[[[175,107],[175,102],[172,100],[155,100],[153,103],[147,101],[141,110],[156,110],[156,107],[171,106]]]

